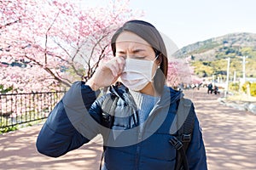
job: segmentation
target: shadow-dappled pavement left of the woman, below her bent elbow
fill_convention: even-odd
[[[0,136],[1,170],[99,169],[102,147],[96,143],[86,144],[59,158],[38,154],[35,143],[40,128],[41,126],[26,127]]]

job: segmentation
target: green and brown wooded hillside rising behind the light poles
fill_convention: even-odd
[[[230,58],[230,77],[234,74],[241,77],[241,56],[247,56],[246,77],[256,77],[256,34],[242,32],[213,37],[183,47],[174,56],[189,58],[199,77],[220,78],[225,78],[227,58]]]

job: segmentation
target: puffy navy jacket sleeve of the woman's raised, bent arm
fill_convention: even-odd
[[[99,133],[98,123],[95,122],[100,121],[101,111],[96,104],[95,109],[91,109],[95,101],[96,92],[84,82],[74,82],[49,113],[39,132],[36,143],[38,152],[46,156],[62,156],[94,138]]]

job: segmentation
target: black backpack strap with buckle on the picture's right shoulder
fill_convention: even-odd
[[[181,98],[177,108],[177,136],[173,136],[170,143],[177,150],[175,170],[189,170],[186,150],[192,139],[195,122],[195,112],[190,111],[192,101]]]

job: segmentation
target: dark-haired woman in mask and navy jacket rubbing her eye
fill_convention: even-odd
[[[179,169],[170,141],[177,135],[172,125],[183,94],[165,85],[168,61],[159,31],[143,20],[128,21],[113,35],[112,50],[115,57],[88,82],[75,82],[51,111],[38,151],[62,156],[101,133],[102,169]],[[117,81],[121,85],[96,98],[100,88]],[[193,105],[189,113],[195,114]],[[207,169],[200,129],[195,116],[185,169]]]

